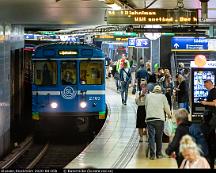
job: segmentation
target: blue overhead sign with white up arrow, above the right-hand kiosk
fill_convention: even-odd
[[[208,39],[205,37],[173,37],[172,50],[208,50]]]

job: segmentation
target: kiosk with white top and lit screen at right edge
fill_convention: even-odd
[[[204,81],[210,79],[216,84],[216,61],[206,61],[202,67],[191,61],[190,98],[191,116],[193,122],[200,122],[205,111],[205,106],[200,102],[205,100],[208,90],[204,87]]]

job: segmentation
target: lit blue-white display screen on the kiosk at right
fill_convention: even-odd
[[[204,86],[206,79],[210,79],[214,83],[214,71],[194,71],[194,103],[200,103],[208,96],[208,90]]]

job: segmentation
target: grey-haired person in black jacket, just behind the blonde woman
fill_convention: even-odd
[[[183,161],[183,156],[179,152],[180,140],[184,135],[189,134],[190,122],[188,121],[188,114],[188,111],[184,108],[178,109],[175,112],[177,124],[176,132],[173,140],[169,143],[168,148],[165,150],[167,155],[176,159],[178,167],[180,167]]]

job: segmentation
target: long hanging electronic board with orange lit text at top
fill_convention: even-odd
[[[109,10],[108,24],[198,24],[197,9]]]

